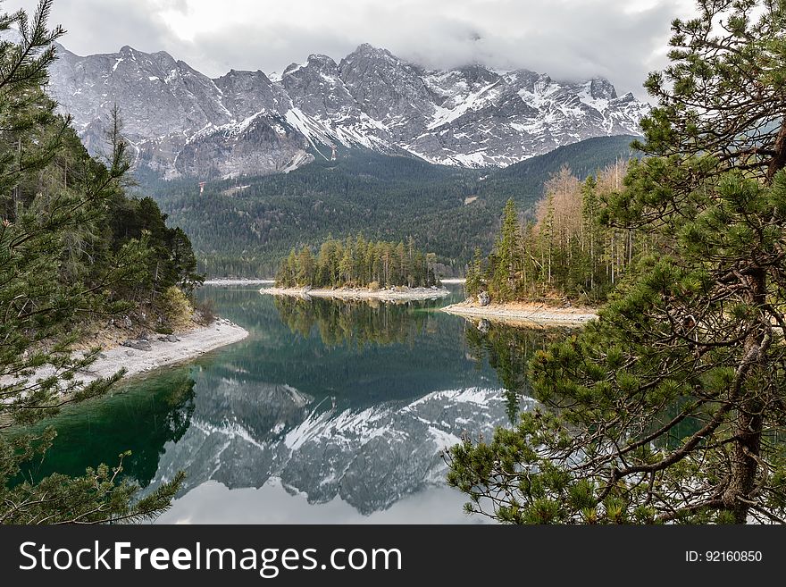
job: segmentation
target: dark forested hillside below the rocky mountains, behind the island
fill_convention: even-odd
[[[339,151],[295,172],[208,182],[140,178],[171,222],[194,242],[200,271],[210,276],[272,275],[290,248],[318,246],[333,235],[414,238],[462,273],[479,246],[489,252],[508,198],[524,214],[543,183],[567,165],[583,178],[631,156],[631,137],[592,138],[504,170],[465,170],[412,157]]]

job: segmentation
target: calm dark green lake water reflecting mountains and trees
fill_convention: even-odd
[[[444,485],[440,449],[489,437],[526,409],[524,364],[549,336],[406,305],[205,287],[250,336],[123,384],[53,423],[31,474],[79,474],[130,449],[146,491],[185,470],[160,519],[227,523],[470,521]]]

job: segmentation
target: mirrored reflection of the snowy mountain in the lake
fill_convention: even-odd
[[[532,400],[524,398],[522,409]],[[151,491],[179,470],[182,492],[207,481],[230,489],[277,478],[309,503],[339,497],[369,515],[444,483],[440,450],[464,432],[507,425],[500,389],[434,391],[373,407],[330,406],[288,386],[224,380],[197,396],[188,431],[167,442]]]

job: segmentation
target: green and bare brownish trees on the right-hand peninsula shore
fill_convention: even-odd
[[[467,270],[467,292],[486,291],[496,302],[605,300],[633,258],[650,244],[641,235],[635,238],[633,231],[602,222],[603,203],[615,197],[612,179],[621,169],[623,165],[615,164],[580,184],[563,167],[546,182],[537,222],[524,226],[509,199],[488,260],[484,263],[476,251]]]

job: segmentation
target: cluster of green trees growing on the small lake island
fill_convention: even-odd
[[[315,259],[311,248],[299,253],[293,248],[276,273],[276,285],[285,288],[428,288],[437,283],[433,256],[416,248],[413,239],[405,246],[367,241],[361,234],[343,242],[326,240]]]

